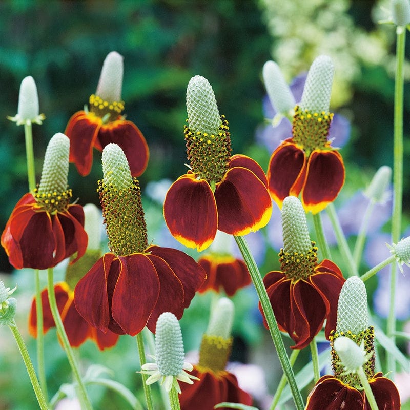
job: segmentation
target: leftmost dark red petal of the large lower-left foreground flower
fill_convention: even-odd
[[[110,323],[107,276],[114,259],[114,254],[104,254],[74,289],[74,303],[78,313],[91,326],[103,332],[107,331]]]

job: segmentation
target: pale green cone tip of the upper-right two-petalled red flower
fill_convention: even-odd
[[[303,88],[300,109],[311,113],[328,112],[332,92],[334,67],[326,55],[317,57],[309,69]]]

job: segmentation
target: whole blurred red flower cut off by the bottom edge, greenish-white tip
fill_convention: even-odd
[[[238,386],[236,376],[226,370],[233,342],[233,316],[232,301],[219,299],[202,336],[199,362],[191,372],[200,380],[181,386],[181,410],[213,410],[221,402],[252,404],[252,397]]]

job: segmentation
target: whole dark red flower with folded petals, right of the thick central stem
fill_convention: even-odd
[[[326,337],[335,329],[339,292],[345,280],[334,262],[318,262],[318,249],[295,196],[283,201],[282,230],[281,270],[269,272],[263,283],[279,329],[296,343],[292,348],[302,349],[322,329],[325,319]]]

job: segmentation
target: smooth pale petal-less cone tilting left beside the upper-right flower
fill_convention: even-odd
[[[272,106],[279,114],[288,115],[295,108],[296,101],[279,66],[274,61],[267,61],[262,76]]]

